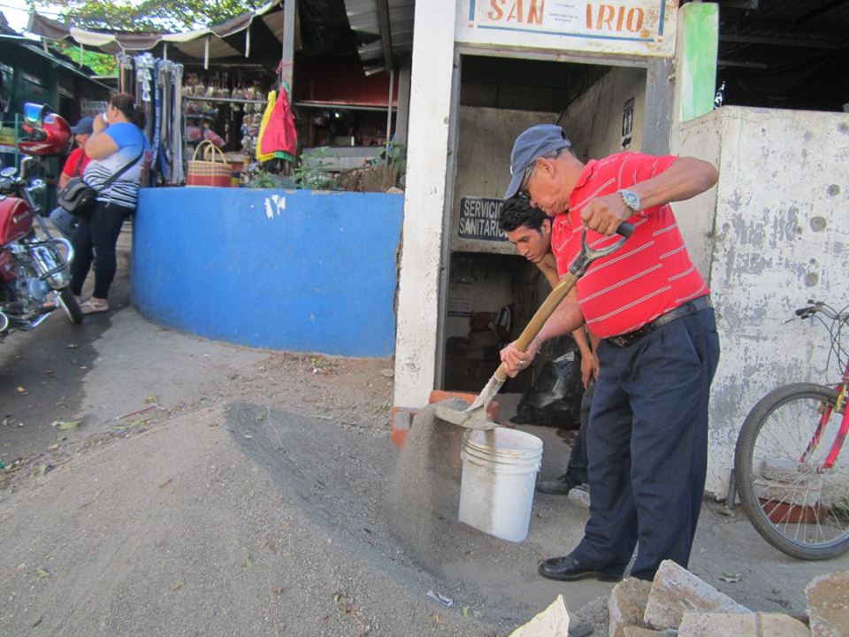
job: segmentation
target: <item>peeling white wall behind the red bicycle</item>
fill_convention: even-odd
[[[717,187],[674,207],[709,279],[723,348],[710,406],[707,491],[723,496],[746,414],[769,390],[833,380],[808,298],[849,302],[849,115],[723,107],[673,132],[674,150],[714,161]]]

